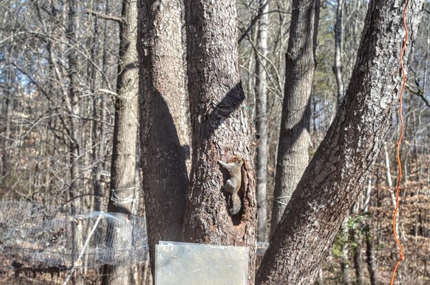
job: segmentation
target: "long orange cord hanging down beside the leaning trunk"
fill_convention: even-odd
[[[407,39],[408,39],[408,32],[407,32],[407,25],[406,25],[406,10],[407,10],[407,4],[409,3],[409,0],[406,0],[405,9],[403,10],[403,27],[405,27],[405,43],[403,43],[402,52],[400,53],[400,67],[402,69],[402,76],[403,76],[403,84],[402,84],[402,90],[400,91],[400,100],[399,100],[399,109],[400,109],[400,137],[397,141],[397,149],[396,149],[396,157],[397,157],[397,164],[398,164],[398,179],[397,179],[397,187],[396,187],[396,209],[394,209],[394,215],[393,215],[393,233],[394,233],[394,240],[396,240],[396,243],[398,245],[399,254],[400,257],[397,260],[396,266],[394,267],[394,271],[392,273],[391,282],[390,285],[394,284],[394,279],[396,278],[396,272],[398,265],[402,260],[405,260],[405,255],[403,255],[403,247],[402,244],[400,244],[400,241],[397,238],[396,233],[396,216],[398,212],[398,200],[399,200],[399,188],[400,188],[400,180],[402,179],[402,164],[400,163],[400,144],[403,139],[403,130],[405,128],[404,122],[403,122],[403,114],[402,114],[402,98],[403,93],[405,92],[405,86],[406,86],[406,73],[405,73],[405,66],[403,65],[403,56],[405,55],[405,49],[407,45]]]

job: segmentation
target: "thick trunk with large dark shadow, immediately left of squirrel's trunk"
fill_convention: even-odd
[[[150,262],[155,244],[181,240],[190,135],[179,1],[138,1],[139,104]]]

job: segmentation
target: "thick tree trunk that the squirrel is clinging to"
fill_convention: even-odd
[[[236,1],[185,1],[192,170],[184,239],[249,247],[249,284],[256,249],[256,192],[249,111],[238,72]],[[230,216],[228,173],[219,160],[245,159],[241,211]]]

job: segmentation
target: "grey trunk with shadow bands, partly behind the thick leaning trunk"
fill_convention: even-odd
[[[309,161],[310,92],[316,63],[314,41],[317,38],[315,26],[319,21],[319,1],[295,0],[292,11],[276,159],[272,234]]]

